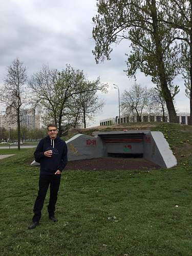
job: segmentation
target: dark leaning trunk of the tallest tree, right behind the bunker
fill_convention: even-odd
[[[149,2],[148,2],[149,3]],[[153,36],[156,46],[156,60],[157,60],[157,67],[158,67],[158,75],[161,84],[161,90],[163,93],[163,97],[166,102],[168,114],[169,114],[169,121],[173,123],[177,123],[177,114],[175,111],[172,95],[168,89],[167,80],[166,80],[166,73],[163,61],[163,51],[161,45],[161,39],[159,35],[159,28],[158,28],[158,19],[157,19],[157,9],[156,9],[156,0],[152,0],[152,4],[149,5],[151,9],[152,15],[152,22],[153,22]]]

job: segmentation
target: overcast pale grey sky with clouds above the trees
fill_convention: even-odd
[[[102,113],[90,126],[98,125],[100,119],[118,115],[118,91],[129,89],[134,80],[126,77],[126,56],[129,42],[114,46],[110,61],[96,65],[92,50],[93,22],[97,13],[96,0],[7,0],[0,8],[0,82],[6,75],[7,66],[18,57],[28,68],[28,75],[41,69],[42,63],[50,68],[65,69],[69,63],[74,69],[84,71],[89,80],[98,76],[109,84],[109,93],[100,95],[105,100]],[[152,87],[150,77],[137,74],[137,82]],[[177,79],[180,93],[176,97],[178,112],[189,112],[189,100],[184,96],[183,80]]]

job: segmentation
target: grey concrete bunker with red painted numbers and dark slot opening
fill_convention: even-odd
[[[149,130],[94,132],[93,137],[77,134],[66,143],[69,161],[118,155],[143,157],[164,168],[177,164],[161,132]],[[31,166],[37,165],[39,164],[35,161],[31,163]]]

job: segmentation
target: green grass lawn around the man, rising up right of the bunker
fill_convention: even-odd
[[[38,190],[34,148],[0,161],[0,255],[191,255],[192,127],[159,124],[170,169],[62,174],[57,223],[28,230]],[[174,134],[175,133],[175,134]],[[177,207],[178,206],[178,207]]]

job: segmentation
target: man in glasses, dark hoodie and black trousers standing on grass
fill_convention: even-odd
[[[49,219],[57,222],[55,218],[55,204],[59,190],[61,172],[67,165],[66,142],[57,137],[57,126],[48,124],[48,136],[41,139],[34,153],[35,161],[40,163],[39,190],[33,208],[34,216],[28,229],[36,228],[41,217],[47,190],[50,185],[50,199],[48,205]]]

